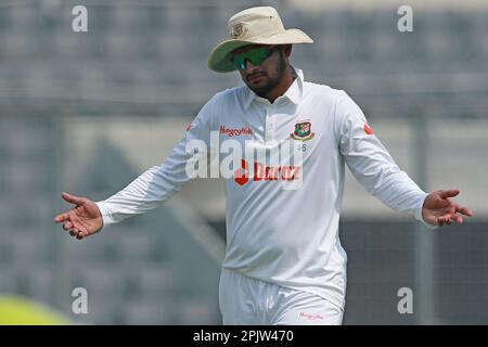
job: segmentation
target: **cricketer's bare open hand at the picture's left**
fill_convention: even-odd
[[[61,196],[66,202],[76,205],[76,207],[67,213],[57,215],[54,221],[63,223],[63,229],[67,230],[72,236],[81,240],[103,228],[102,215],[94,202],[68,193],[62,193]]]

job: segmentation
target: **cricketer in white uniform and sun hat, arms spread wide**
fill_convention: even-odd
[[[449,201],[459,191],[422,191],[395,164],[344,91],[308,82],[290,65],[291,44],[312,40],[301,30],[284,29],[274,9],[240,12],[228,28],[232,39],[213,50],[209,67],[239,69],[245,86],[211,98],[163,165],[123,191],[90,206],[86,198],[63,196],[77,208],[90,207],[103,219],[92,227],[100,230],[158,207],[178,192],[192,178],[187,166],[194,155],[190,144],[201,141],[208,152],[198,154],[211,154],[213,131],[220,143],[232,139],[243,152],[277,145],[298,150],[298,165],[271,165],[271,151],[243,157],[235,175],[224,181],[227,249],[219,286],[223,323],[341,324],[347,257],[338,223],[345,165],[371,194],[431,228],[462,222],[457,214],[472,213]],[[294,182],[299,184],[286,189]],[[56,221],[65,221],[72,235],[92,233],[84,223],[77,227],[73,210],[73,218],[68,215]]]

